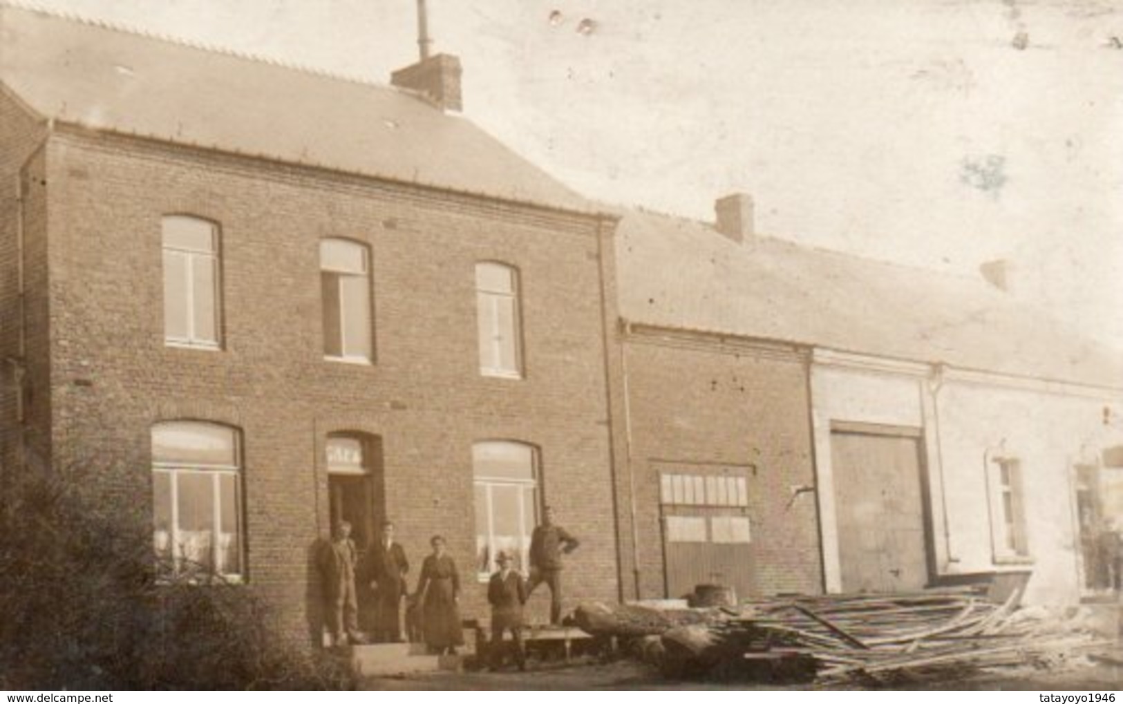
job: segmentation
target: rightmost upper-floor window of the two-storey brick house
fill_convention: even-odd
[[[522,376],[519,316],[519,273],[495,262],[476,264],[481,374]]]

